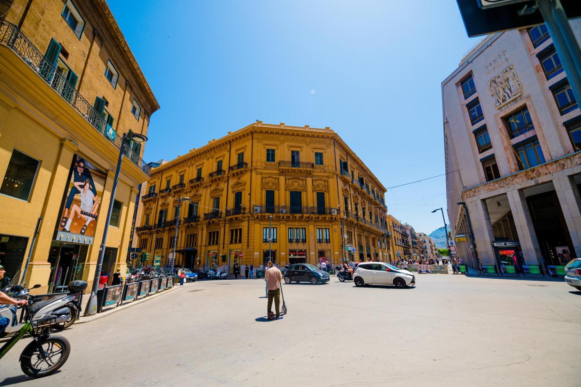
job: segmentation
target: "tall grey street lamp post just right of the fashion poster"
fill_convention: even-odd
[[[99,246],[99,257],[97,258],[97,266],[95,267],[95,278],[93,279],[93,286],[91,288],[91,296],[85,308],[85,316],[95,314],[97,312],[97,290],[99,289],[99,278],[101,277],[101,268],[103,267],[103,259],[105,259],[105,244],[107,242],[107,231],[109,231],[109,222],[111,221],[111,214],[113,213],[113,203],[115,201],[115,192],[117,192],[117,182],[119,182],[119,173],[121,171],[121,161],[123,160],[123,152],[127,141],[145,142],[147,137],[141,133],[123,133],[121,139],[121,146],[119,147],[119,159],[117,159],[117,169],[115,177],[113,178],[113,188],[111,189],[111,199],[109,200],[109,209],[107,210],[107,218],[105,219],[105,230],[103,230],[103,239],[101,246]]]

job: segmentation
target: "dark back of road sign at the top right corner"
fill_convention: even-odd
[[[469,37],[544,23],[543,16],[541,16],[539,10],[529,13],[524,12],[522,16],[519,15],[519,11],[525,5],[529,10],[532,10],[533,6],[535,6],[535,1],[457,0],[457,2]],[[485,3],[486,6],[483,9],[482,5]],[[497,5],[491,6],[488,3],[497,3]],[[561,0],[561,5],[569,19],[581,17],[581,1]]]

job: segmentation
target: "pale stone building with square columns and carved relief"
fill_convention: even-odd
[[[469,236],[465,202],[483,265],[555,274],[581,257],[581,113],[544,24],[484,38],[442,101],[452,234]],[[457,251],[476,266],[469,237]]]

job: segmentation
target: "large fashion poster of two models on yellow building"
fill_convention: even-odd
[[[95,236],[105,172],[79,155],[73,156],[55,239],[92,245]]]

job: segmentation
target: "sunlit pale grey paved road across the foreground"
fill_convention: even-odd
[[[1,360],[0,385],[579,386],[581,292],[518,279],[419,275],[415,288],[284,285],[264,321],[261,279],[198,281],[64,332],[51,377]]]

